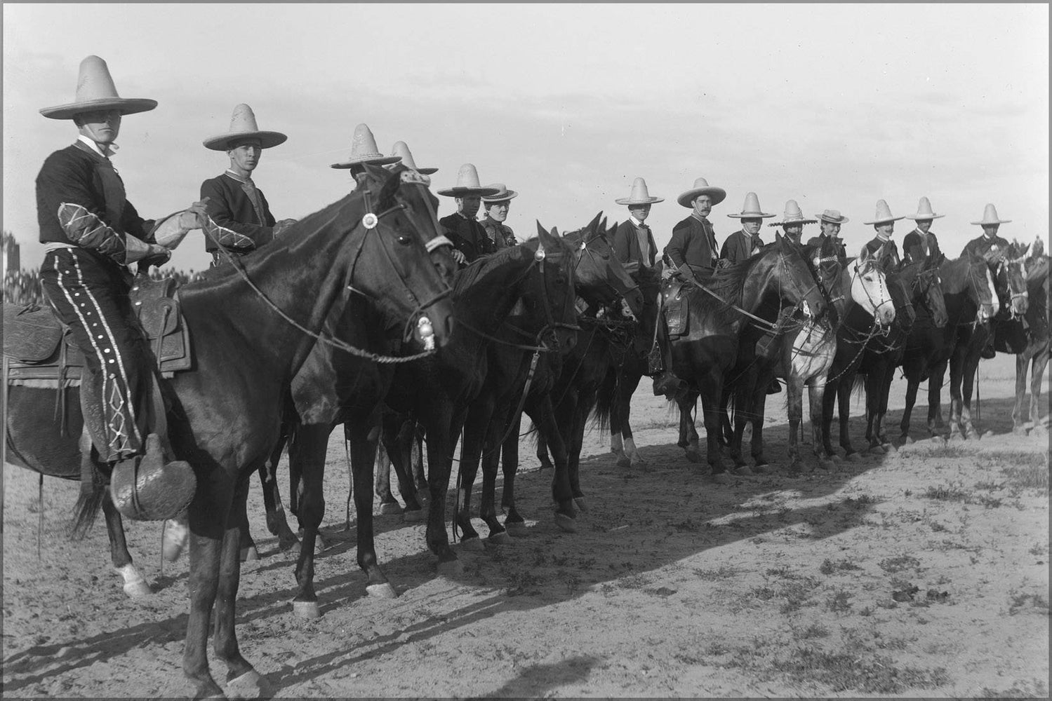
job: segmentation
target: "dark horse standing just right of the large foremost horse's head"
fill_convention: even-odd
[[[461,566],[449,545],[445,528],[445,494],[452,472],[453,448],[467,411],[483,390],[489,369],[487,347],[495,343],[505,318],[522,302],[530,328],[541,331],[528,341],[532,348],[544,342],[549,348],[573,344],[574,248],[543,228],[538,238],[474,261],[458,271],[453,300],[459,332],[436,356],[400,366],[386,397],[383,440],[392,460],[401,451],[392,439],[407,417],[413,417],[427,435],[430,503],[426,540],[438,557],[440,574]],[[520,343],[524,341],[520,338]],[[521,345],[527,345],[522,343]],[[466,459],[463,455],[462,459]],[[552,492],[559,504],[555,522],[572,528],[575,512],[565,471],[557,471]]]

